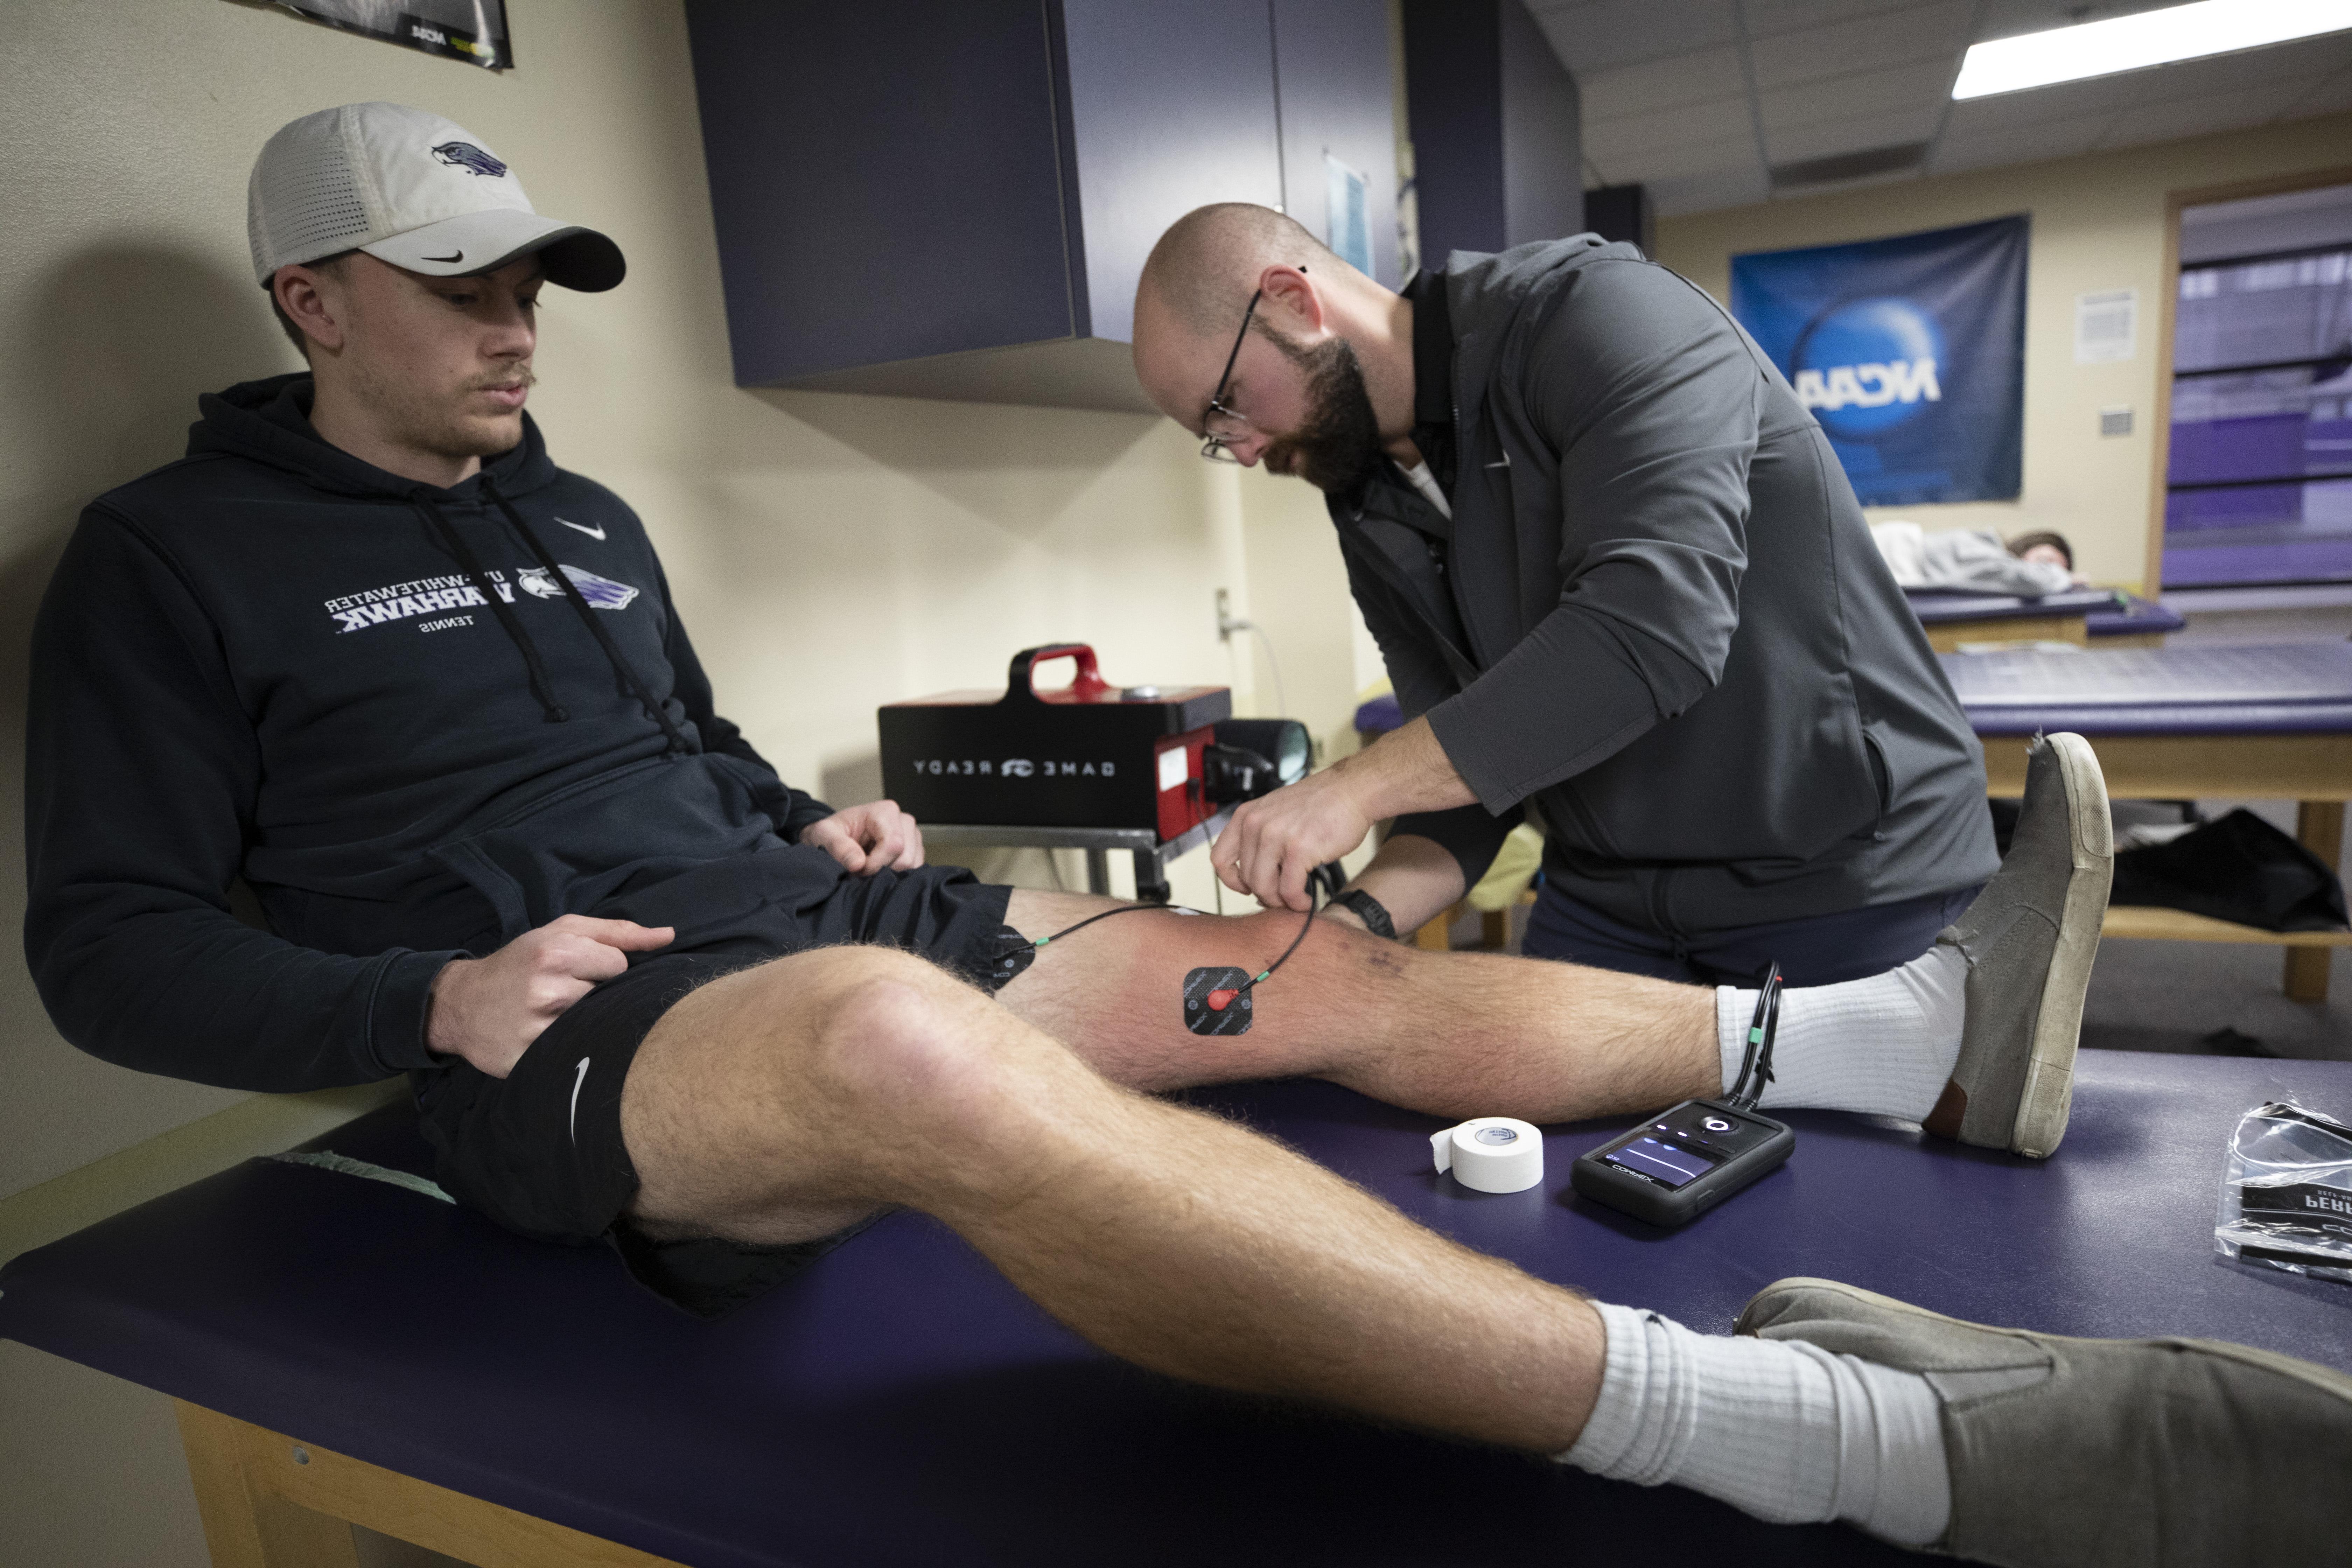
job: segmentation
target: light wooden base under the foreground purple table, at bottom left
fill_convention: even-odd
[[[212,1568],[360,1568],[355,1523],[480,1568],[680,1568],[183,1399],[174,1403]]]

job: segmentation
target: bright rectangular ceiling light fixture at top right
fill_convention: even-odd
[[[2084,21],[2049,33],[1971,45],[1952,82],[1955,99],[1983,99],[2089,75],[2145,71],[2171,61],[2284,45],[2352,28],[2352,0],[2199,0],[2161,12]]]

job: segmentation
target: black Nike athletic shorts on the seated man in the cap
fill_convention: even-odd
[[[633,954],[494,1079],[468,1063],[414,1072],[440,1185],[499,1225],[541,1241],[607,1241],[640,1284],[717,1316],[847,1241],[790,1246],[656,1241],[628,1220],[637,1168],[621,1143],[621,1084],[654,1023],[694,987],[767,959],[875,943],[917,952],[995,990],[1025,969],[1004,924],[1011,889],[953,865],[844,872],[818,849],[774,849],[691,867],[590,910],[677,926],[670,947]]]

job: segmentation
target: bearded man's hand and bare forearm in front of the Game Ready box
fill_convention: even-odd
[[[1472,799],[1430,722],[1414,719],[1322,773],[1235,806],[1209,865],[1218,882],[1270,910],[1308,910],[1308,872],[1362,844],[1376,820]]]

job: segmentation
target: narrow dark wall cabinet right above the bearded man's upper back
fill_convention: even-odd
[[[1421,256],[1585,226],[1576,78],[1522,0],[1404,0]]]

